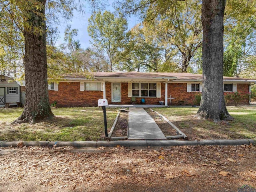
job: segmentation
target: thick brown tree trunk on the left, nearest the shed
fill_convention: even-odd
[[[45,1],[38,0],[44,5],[41,10],[34,8],[25,13],[29,26],[24,24],[26,102],[23,113],[13,123],[34,123],[54,117],[48,96]]]

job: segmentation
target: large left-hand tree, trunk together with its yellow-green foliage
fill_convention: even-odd
[[[12,0],[0,1],[0,8],[0,26],[5,26],[0,33],[2,45],[19,53],[24,50],[26,102],[14,123],[52,118],[47,85],[46,20],[49,25],[53,24],[59,13],[69,19],[72,10],[81,7],[73,0]],[[9,54],[7,52],[8,57]]]

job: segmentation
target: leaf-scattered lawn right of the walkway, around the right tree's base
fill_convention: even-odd
[[[244,139],[256,140],[256,107],[227,107],[234,121],[214,123],[194,118],[198,108],[154,108],[177,126],[189,140]]]

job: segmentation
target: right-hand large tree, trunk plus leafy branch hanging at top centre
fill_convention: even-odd
[[[126,8],[127,13],[141,10],[148,21],[154,20],[157,16],[164,16],[170,12],[171,19],[181,13],[176,10],[180,1],[132,1],[128,6],[118,4]],[[202,1],[202,72],[203,88],[198,118],[232,119],[228,113],[223,94],[223,30],[224,10],[226,0],[203,0]],[[177,12],[176,12],[177,11]],[[171,42],[170,42],[171,43]],[[182,42],[181,42],[182,43]]]

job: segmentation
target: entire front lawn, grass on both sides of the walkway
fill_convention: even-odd
[[[104,139],[102,108],[52,108],[53,120],[10,125],[22,113],[22,108],[0,109],[0,141],[84,141]],[[84,111],[85,110],[85,111]],[[108,131],[117,109],[107,108]],[[194,117],[198,108],[154,108],[163,114],[190,140],[256,139],[256,107],[228,107],[234,121],[214,123]]]

